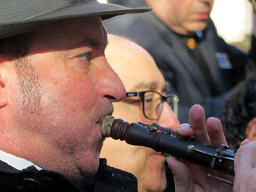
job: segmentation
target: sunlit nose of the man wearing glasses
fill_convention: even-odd
[[[179,121],[167,102],[163,103],[163,109],[160,119],[158,119],[158,124],[172,130],[177,130]]]

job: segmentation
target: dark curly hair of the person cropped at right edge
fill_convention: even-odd
[[[239,148],[246,138],[247,124],[256,117],[256,74],[238,85],[236,93],[225,102],[224,134],[230,149]]]

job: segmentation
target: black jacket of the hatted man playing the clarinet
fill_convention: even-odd
[[[59,172],[38,171],[34,166],[18,171],[0,161],[0,192],[137,192],[137,178],[101,160],[96,175],[73,183]]]

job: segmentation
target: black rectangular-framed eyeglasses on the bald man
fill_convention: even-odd
[[[139,96],[143,104],[143,114],[147,119],[157,120],[163,110],[163,103],[167,102],[177,117],[178,97],[176,95],[162,96],[154,90],[126,92],[126,97]]]

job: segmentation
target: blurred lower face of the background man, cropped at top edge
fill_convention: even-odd
[[[213,0],[160,0],[162,15],[173,31],[187,35],[206,28]]]

